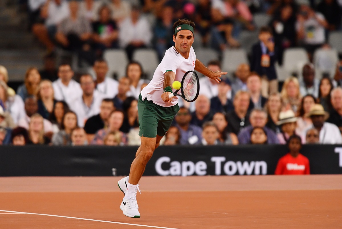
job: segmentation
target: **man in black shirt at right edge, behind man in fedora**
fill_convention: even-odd
[[[342,88],[338,87],[331,91],[331,105],[327,122],[337,125],[342,130]]]

